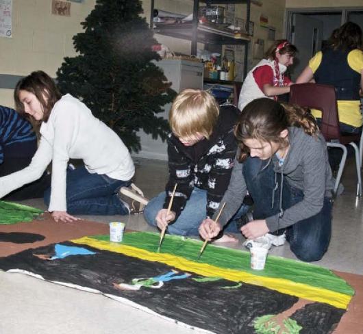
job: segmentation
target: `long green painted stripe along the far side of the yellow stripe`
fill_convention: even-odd
[[[156,252],[159,237],[159,233],[125,233],[123,244]],[[109,235],[97,235],[91,238],[102,241],[110,240]],[[202,244],[203,242],[199,240],[166,235],[162,243],[161,253],[169,253],[196,261]],[[242,270],[256,276],[288,279],[293,282],[347,294],[348,296],[353,296],[354,294],[353,288],[344,279],[331,272],[331,270],[293,259],[268,255],[264,270],[251,270],[249,252],[208,244],[199,262],[221,268]]]

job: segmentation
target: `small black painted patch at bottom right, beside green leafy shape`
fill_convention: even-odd
[[[312,303],[298,309],[290,318],[303,326],[299,334],[325,334],[336,328],[344,313],[344,309],[324,303]]]

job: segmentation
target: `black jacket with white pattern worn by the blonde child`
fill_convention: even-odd
[[[164,209],[168,207],[175,183],[177,190],[171,210],[178,217],[194,187],[207,190],[206,216],[212,217],[227,190],[237,142],[234,125],[240,111],[232,106],[221,107],[218,122],[209,140],[184,146],[171,133],[168,137],[169,179],[166,183]]]

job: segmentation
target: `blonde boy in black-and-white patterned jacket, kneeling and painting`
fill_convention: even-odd
[[[169,116],[173,131],[168,137],[169,179],[166,192],[145,208],[148,224],[167,227],[171,234],[199,235],[199,224],[213,216],[229,184],[237,149],[233,130],[238,114],[231,105],[220,108],[203,90],[187,89],[178,94]],[[177,190],[168,212],[175,183]],[[247,209],[242,205],[234,219]],[[234,220],[229,225],[229,231],[238,232]],[[224,235],[218,241],[236,239]]]

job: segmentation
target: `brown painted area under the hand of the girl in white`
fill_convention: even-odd
[[[38,233],[45,236],[45,240],[32,244],[0,242],[0,257],[3,257],[24,251],[25,249],[46,246],[55,242],[63,242],[86,235],[108,234],[110,230],[108,224],[90,222],[88,220],[55,222],[49,214],[45,214],[42,220],[10,225],[0,224],[0,232]]]

